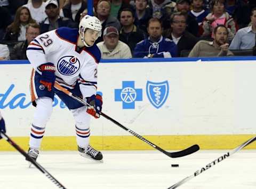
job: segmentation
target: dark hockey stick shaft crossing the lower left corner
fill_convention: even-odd
[[[36,162],[33,158],[28,156],[28,154],[22,150],[18,144],[16,144],[9,136],[7,136],[5,133],[0,131],[0,135],[3,139],[5,139],[7,142],[9,142],[16,150],[18,150],[23,156],[28,159],[31,164],[33,164],[37,169],[39,169],[47,178],[49,178],[56,186],[62,189],[66,189],[56,178],[54,178],[50,173],[48,173],[47,170],[45,170],[38,162]]]

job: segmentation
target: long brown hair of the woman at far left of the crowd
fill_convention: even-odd
[[[36,23],[34,19],[32,19],[30,11],[27,7],[21,6],[17,9],[14,17],[14,21],[7,27],[8,32],[13,32],[13,33],[20,33],[20,13],[23,9],[26,9],[28,11],[28,22],[27,23]]]

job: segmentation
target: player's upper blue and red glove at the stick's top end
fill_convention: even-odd
[[[46,63],[39,66],[42,77],[40,83],[42,83],[45,87],[47,87],[48,91],[52,90],[52,86],[55,81],[55,66],[52,63]]]

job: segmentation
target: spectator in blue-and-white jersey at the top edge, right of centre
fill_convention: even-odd
[[[196,19],[198,26],[202,24],[205,17],[209,14],[209,10],[204,10],[204,0],[192,0],[192,10],[189,15]]]

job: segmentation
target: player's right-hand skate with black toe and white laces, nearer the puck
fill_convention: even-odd
[[[103,162],[103,156],[102,153],[98,150],[93,149],[90,145],[87,145],[86,149],[85,148],[81,148],[79,146],[78,147],[78,151],[79,154],[85,158],[90,158],[96,161],[100,161]]]

